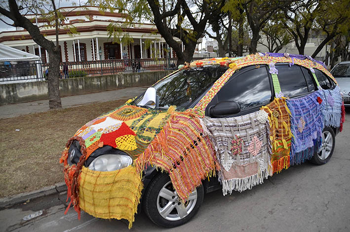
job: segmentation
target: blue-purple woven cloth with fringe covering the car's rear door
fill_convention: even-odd
[[[322,90],[307,96],[287,99],[291,112],[291,131],[293,133],[290,165],[300,164],[310,159],[321,145],[323,117],[317,101]]]

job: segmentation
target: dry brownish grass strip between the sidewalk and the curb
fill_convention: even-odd
[[[63,165],[59,158],[68,139],[83,124],[126,100],[0,119],[0,197],[63,182]]]

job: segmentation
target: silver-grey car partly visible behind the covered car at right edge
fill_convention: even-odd
[[[344,94],[344,105],[350,107],[350,61],[342,61],[331,70]]]

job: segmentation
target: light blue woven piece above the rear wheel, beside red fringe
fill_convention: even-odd
[[[321,113],[324,120],[324,127],[340,127],[342,119],[342,95],[339,86],[334,90],[321,90]]]

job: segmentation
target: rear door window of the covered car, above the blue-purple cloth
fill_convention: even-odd
[[[298,65],[276,65],[278,81],[284,96],[296,96],[308,93],[308,85]]]

